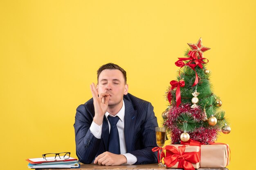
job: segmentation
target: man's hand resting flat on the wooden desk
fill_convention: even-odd
[[[122,165],[127,163],[127,159],[124,155],[117,155],[110,152],[104,152],[101,155],[98,155],[94,162],[94,164],[98,163],[99,165]]]

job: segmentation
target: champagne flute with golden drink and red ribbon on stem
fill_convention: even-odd
[[[155,128],[155,137],[157,141],[157,146],[162,148],[164,146],[165,142],[165,127],[156,127]],[[158,166],[164,166],[162,163],[162,157],[161,157],[162,149],[159,149],[159,163]]]

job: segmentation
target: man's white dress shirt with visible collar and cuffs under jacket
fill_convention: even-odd
[[[122,155],[124,155],[127,159],[127,165],[132,165],[135,162],[137,162],[137,157],[130,153],[126,153],[126,144],[125,144],[125,137],[124,137],[124,111],[125,111],[125,106],[124,106],[124,100],[123,100],[123,106],[121,110],[117,113],[116,116],[119,117],[119,120],[117,122],[117,130],[119,133],[119,141],[120,141],[120,152]],[[108,115],[112,116],[110,113],[106,112],[105,117],[108,120]],[[110,132],[110,122],[108,121],[108,127],[109,127],[109,132]],[[98,139],[101,139],[101,132],[102,132],[102,124],[98,125],[95,122],[92,121],[92,124],[90,126],[90,132],[94,137],[97,137]]]

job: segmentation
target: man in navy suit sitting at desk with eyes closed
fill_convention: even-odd
[[[128,93],[126,71],[118,65],[102,65],[97,76],[97,87],[90,85],[92,98],[76,109],[79,160],[106,166],[156,163],[153,106]]]

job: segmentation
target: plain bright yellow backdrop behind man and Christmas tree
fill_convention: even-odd
[[[76,107],[108,62],[127,71],[129,92],[161,124],[174,63],[200,37],[232,129],[217,142],[231,147],[229,169],[252,168],[255,9],[254,0],[1,0],[0,169],[27,170],[25,159],[43,153],[76,157]]]

